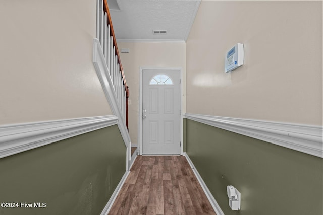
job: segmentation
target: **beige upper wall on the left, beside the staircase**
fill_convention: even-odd
[[[0,1],[0,125],[110,115],[93,63],[95,1]]]

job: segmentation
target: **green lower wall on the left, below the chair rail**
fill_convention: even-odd
[[[126,172],[117,125],[0,159],[0,214],[100,214]]]

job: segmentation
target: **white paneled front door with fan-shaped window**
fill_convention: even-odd
[[[180,71],[142,71],[142,154],[180,154]]]

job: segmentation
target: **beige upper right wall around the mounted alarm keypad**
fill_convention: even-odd
[[[186,62],[188,113],[322,125],[321,1],[202,1]]]

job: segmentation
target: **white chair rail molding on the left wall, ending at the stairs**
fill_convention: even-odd
[[[117,123],[110,115],[0,126],[0,158]]]

